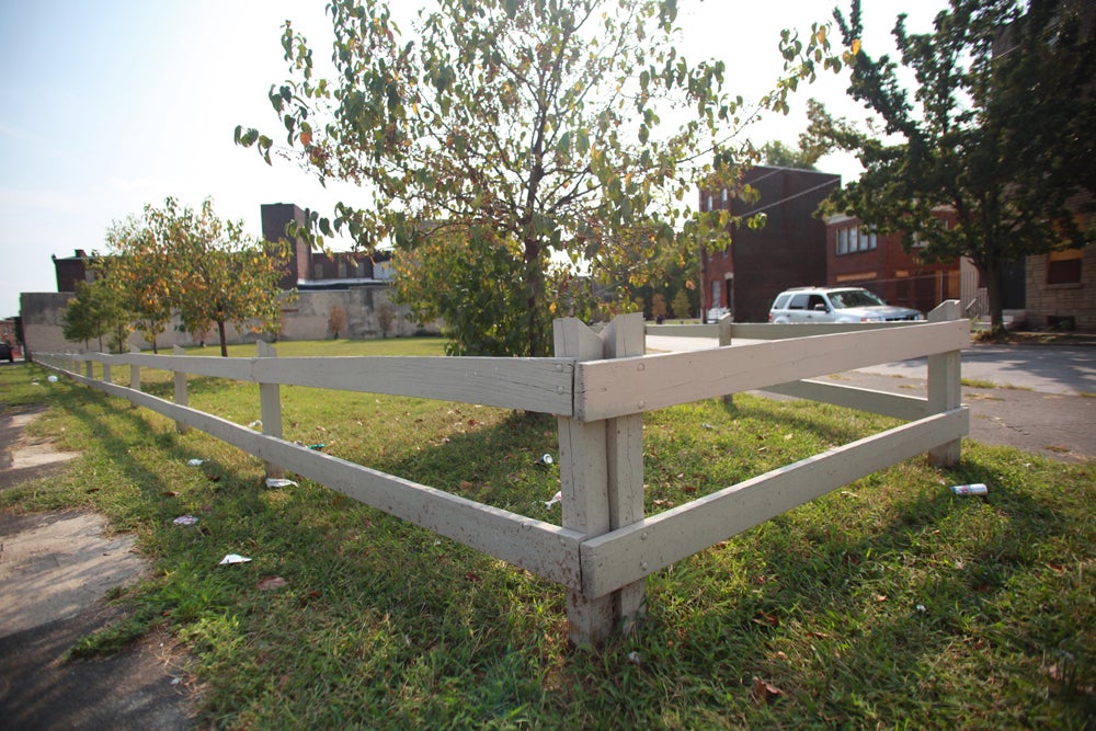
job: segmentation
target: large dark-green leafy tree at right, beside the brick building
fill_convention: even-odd
[[[808,141],[854,150],[865,168],[827,209],[901,232],[926,261],[969,256],[994,329],[1003,327],[1003,265],[1094,240],[1096,19],[1084,4],[1031,0],[1024,12],[1015,0],[951,0],[928,33],[910,33],[900,15],[893,35],[913,72],[912,99],[898,62],[867,47],[848,88],[890,138],[811,107]],[[847,21],[834,18],[859,45],[860,0]],[[941,208],[955,226],[939,224]]]

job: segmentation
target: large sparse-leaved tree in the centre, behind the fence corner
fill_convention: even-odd
[[[333,0],[330,79],[285,27],[293,77],[270,99],[287,147],[256,129],[236,138],[267,162],[299,156],[321,181],[363,185],[333,222],[310,218],[321,235],[391,240],[432,282],[460,277],[415,296],[420,315],[444,313],[456,352],[545,355],[553,310],[570,307],[550,279],[576,276],[560,267],[596,278],[637,228],[654,231],[652,258],[726,229],[726,212],[697,216],[683,201],[701,182],[733,186],[741,102],[722,90],[722,62],[678,50],[676,4],[439,0],[402,36],[383,0]],[[824,41],[786,36],[792,78],[812,72],[795,61]],[[794,87],[766,104],[780,108]]]

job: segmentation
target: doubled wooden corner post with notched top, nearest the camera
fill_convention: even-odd
[[[579,361],[642,355],[643,319],[639,313],[617,318],[601,334],[579,320],[557,320],[555,344],[557,357]],[[592,538],[643,518],[641,414],[593,422],[561,416],[559,457],[564,528]],[[643,610],[646,587],[643,579],[604,596],[568,590],[571,641],[596,644],[618,623],[630,627]]]

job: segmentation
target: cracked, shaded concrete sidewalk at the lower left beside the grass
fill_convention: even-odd
[[[26,439],[34,413],[0,416],[0,490],[48,477],[75,455]],[[0,727],[149,729],[190,726],[181,653],[153,633],[118,655],[66,661],[88,635],[121,618],[104,598],[139,580],[133,536],[103,533],[105,518],[65,511],[0,513]]]

